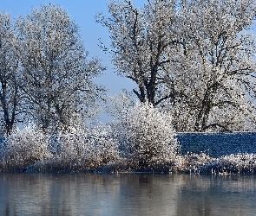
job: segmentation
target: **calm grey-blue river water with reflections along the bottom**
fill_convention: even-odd
[[[254,176],[3,174],[0,215],[254,215]]]

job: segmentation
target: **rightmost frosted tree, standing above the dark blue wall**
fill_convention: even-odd
[[[183,97],[174,105],[179,130],[252,130],[256,47],[247,29],[255,9],[252,0],[181,1],[184,43],[175,87]]]

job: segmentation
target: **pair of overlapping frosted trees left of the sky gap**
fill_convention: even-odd
[[[104,88],[94,79],[105,68],[100,60],[89,60],[67,11],[42,5],[16,22],[3,14],[0,24],[0,99],[7,133],[21,107],[23,121],[45,132],[67,130],[95,114]]]

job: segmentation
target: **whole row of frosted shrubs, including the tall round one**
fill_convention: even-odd
[[[168,170],[180,148],[170,113],[147,103],[128,107],[112,125],[73,127],[54,136],[28,126],[6,137],[4,146],[2,169],[57,172]]]

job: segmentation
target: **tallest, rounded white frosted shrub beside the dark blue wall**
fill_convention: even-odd
[[[124,112],[121,126],[124,146],[141,166],[174,162],[180,145],[170,113],[148,103],[136,103]]]

